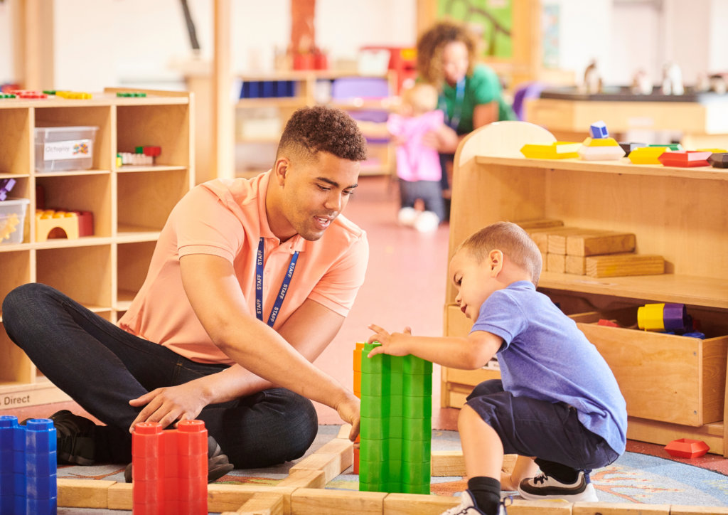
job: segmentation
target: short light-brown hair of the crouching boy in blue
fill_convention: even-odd
[[[467,251],[478,263],[488,257],[491,251],[501,251],[510,261],[531,274],[531,283],[539,286],[541,276],[541,251],[526,231],[510,221],[498,221],[473,233],[458,245],[457,253]]]

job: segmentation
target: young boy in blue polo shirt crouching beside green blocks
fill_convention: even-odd
[[[450,262],[456,302],[475,321],[470,336],[413,337],[379,326],[379,353],[414,354],[456,369],[478,369],[497,353],[502,380],[478,385],[460,412],[468,489],[443,515],[496,515],[501,490],[529,500],[596,502],[589,480],[625,451],[625,400],[604,358],[574,321],[536,291],[541,254],[520,227],[489,225]],[[503,455],[517,454],[513,474]],[[537,468],[541,473],[535,475]],[[535,477],[534,477],[535,476]]]

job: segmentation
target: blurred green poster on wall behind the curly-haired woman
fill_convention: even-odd
[[[438,18],[459,20],[480,36],[481,55],[513,58],[513,0],[438,0]]]

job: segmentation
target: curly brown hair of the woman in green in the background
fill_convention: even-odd
[[[475,36],[464,25],[451,20],[436,23],[420,36],[417,42],[417,71],[424,82],[429,82],[439,90],[443,87],[445,71],[443,71],[443,49],[446,44],[461,42],[467,47],[470,63],[467,75],[472,75],[475,66],[477,42]]]

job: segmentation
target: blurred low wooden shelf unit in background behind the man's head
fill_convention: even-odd
[[[288,87],[285,93],[286,95],[290,94],[290,96],[240,98],[237,101],[235,106],[236,142],[238,144],[277,144],[285,124],[296,109],[317,105],[317,95],[315,93],[317,82],[357,76],[356,73],[339,71],[288,71],[239,76],[238,78],[242,83],[291,83],[291,86]],[[387,79],[390,95],[397,90],[397,74],[395,71],[373,77]],[[327,102],[327,105],[344,109],[344,111],[389,111],[392,108],[392,97],[381,99],[354,98],[350,101],[331,100]],[[366,132],[365,135],[367,135]],[[387,175],[392,173],[395,169],[394,146],[389,143],[371,141],[368,149],[369,160],[362,163],[360,175]],[[267,170],[246,170],[237,173],[237,175],[251,178],[265,171]]]

